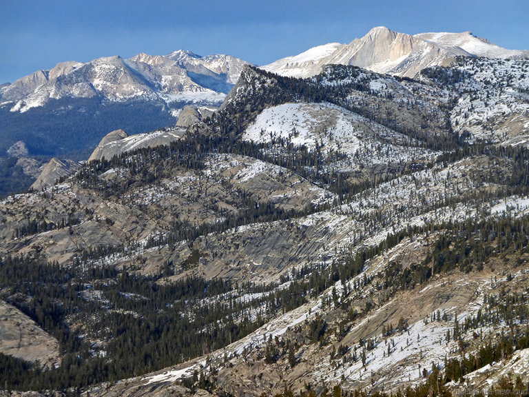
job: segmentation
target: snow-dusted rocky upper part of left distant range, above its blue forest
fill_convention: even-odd
[[[184,50],[165,56],[141,53],[130,59],[63,62],[0,88],[0,103],[12,112],[39,108],[50,99],[96,96],[103,101],[162,101],[169,107],[188,100],[218,105],[246,64],[229,55],[200,57]]]

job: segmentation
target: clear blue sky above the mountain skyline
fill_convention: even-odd
[[[61,61],[178,49],[264,65],[381,25],[408,34],[472,30],[525,50],[528,17],[529,0],[0,0],[0,83]]]

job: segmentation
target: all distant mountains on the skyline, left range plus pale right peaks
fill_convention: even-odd
[[[320,45],[261,68],[307,78],[320,74],[325,65],[340,64],[415,77],[455,57],[528,59],[529,51],[506,50],[470,32],[412,36],[377,27],[349,44]],[[180,114],[186,115],[179,122],[185,125],[184,119],[193,119],[196,112],[181,113],[186,105],[211,114],[248,64],[230,55],[200,57],[184,50],[164,56],[141,53],[130,59],[62,62],[0,85],[0,174],[6,181],[10,175],[24,174],[28,178],[22,185],[27,188],[35,169],[52,156],[85,160],[111,131],[150,132],[174,126]],[[24,153],[17,147],[24,147]],[[31,167],[28,161],[7,161],[6,156],[31,158]],[[21,164],[25,166],[14,170]],[[12,191],[0,186],[0,196]]]

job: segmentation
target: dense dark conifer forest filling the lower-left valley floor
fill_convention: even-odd
[[[3,358],[2,365],[13,370],[0,371],[0,383],[19,389],[83,387],[143,374],[220,348],[262,325],[262,319],[248,320],[254,303],[229,298],[234,287],[222,280],[185,278],[160,285],[125,271],[82,272],[38,258],[8,257],[0,264],[0,285],[10,303],[59,339],[64,354],[61,367],[47,371]],[[88,298],[94,289],[103,292],[101,299]],[[197,304],[214,296],[228,298]],[[107,340],[104,356],[71,331],[66,316],[85,324],[92,337]],[[18,376],[23,373],[31,376]]]

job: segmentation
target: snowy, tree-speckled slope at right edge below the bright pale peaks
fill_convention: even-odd
[[[450,68],[424,70],[453,92],[450,124],[472,142],[526,145],[529,134],[529,62],[458,58]]]

